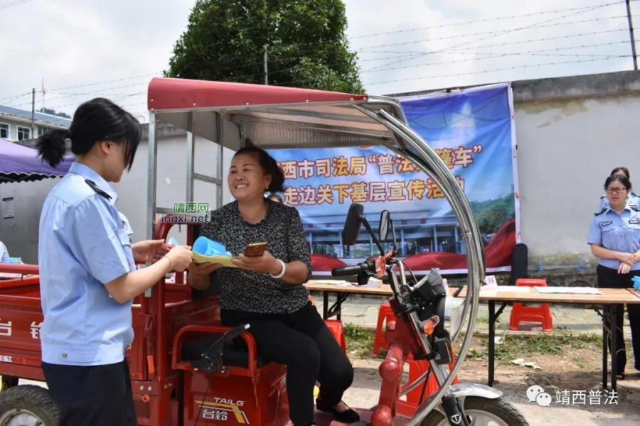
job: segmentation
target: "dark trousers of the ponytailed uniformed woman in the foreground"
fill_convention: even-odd
[[[138,426],[126,359],[105,366],[43,362],[42,369],[60,405],[60,426]]]

